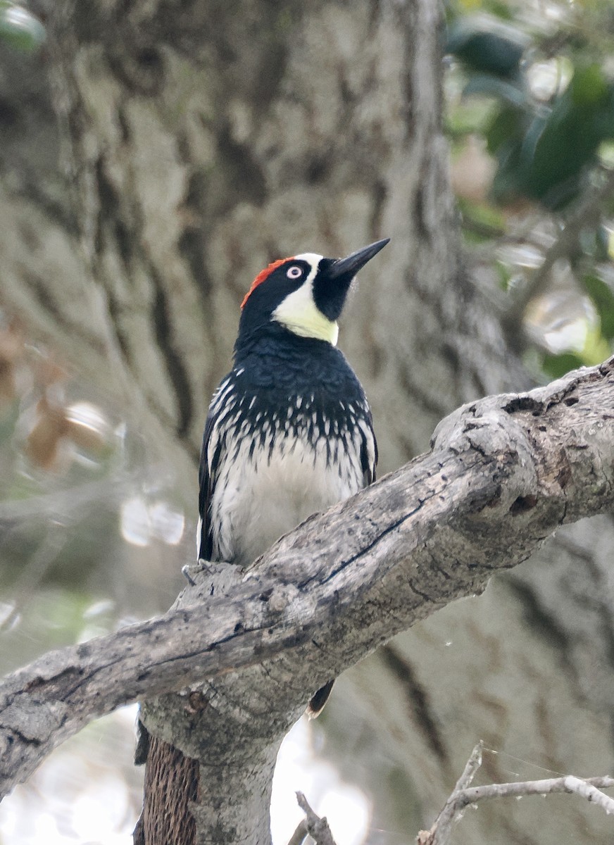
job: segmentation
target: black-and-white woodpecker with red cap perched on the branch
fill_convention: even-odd
[[[371,410],[336,348],[337,319],[354,276],[387,243],[345,259],[280,259],[254,279],[234,367],[204,427],[198,559],[249,566],[307,516],[374,480]],[[312,713],[331,686],[313,696]]]

